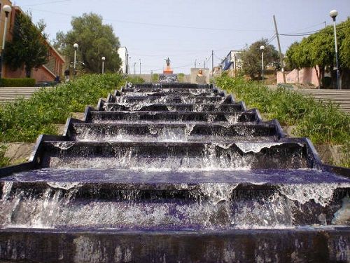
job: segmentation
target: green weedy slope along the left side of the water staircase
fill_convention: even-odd
[[[125,81],[120,74],[84,75],[56,88],[41,88],[29,100],[20,99],[0,107],[0,141],[34,142],[38,135],[55,134],[53,123],[65,123],[71,112],[83,112],[97,104]]]

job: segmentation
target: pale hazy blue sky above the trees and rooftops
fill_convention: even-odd
[[[274,23],[280,34],[311,32],[350,17],[350,0],[13,0],[31,11],[34,22],[43,19],[50,41],[59,30],[71,29],[71,18],[83,13],[102,15],[113,26],[120,46],[126,46],[136,72],[162,72],[169,57],[175,73],[188,74],[195,66],[218,65],[230,50],[240,50],[259,39],[272,39]],[[303,36],[281,36],[285,52]],[[271,43],[277,47],[276,39]],[[131,72],[134,68],[131,66]]]

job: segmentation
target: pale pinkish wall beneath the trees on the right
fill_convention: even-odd
[[[316,70],[311,67],[305,67],[304,69],[294,69],[292,72],[286,72],[287,83],[303,83],[313,84],[318,86]],[[282,72],[277,72],[277,83],[283,83]]]

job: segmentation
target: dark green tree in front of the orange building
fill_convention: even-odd
[[[31,69],[40,67],[48,61],[48,43],[44,34],[43,21],[34,25],[31,15],[19,13],[15,16],[13,39],[6,43],[4,61],[15,70],[25,67],[29,78]]]

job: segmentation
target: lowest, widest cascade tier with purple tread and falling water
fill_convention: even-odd
[[[12,175],[0,187],[9,215],[1,227],[214,230],[344,225],[350,180],[322,170],[49,168]],[[99,213],[86,217],[87,210]]]

